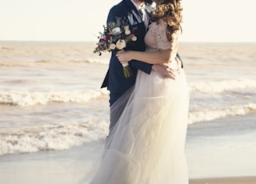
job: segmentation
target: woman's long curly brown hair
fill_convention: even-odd
[[[172,34],[182,31],[182,5],[181,0],[155,0],[157,6],[151,13],[152,22],[158,22],[160,19],[167,22],[166,36],[172,41]]]

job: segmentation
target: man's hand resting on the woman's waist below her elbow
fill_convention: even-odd
[[[182,70],[182,62],[178,59],[175,58],[178,65],[175,66],[174,68],[171,67],[171,65],[168,65],[166,63],[161,64],[161,65],[153,65],[152,70],[160,74],[162,78],[172,78],[176,79],[178,77],[178,74],[180,74],[180,71]]]

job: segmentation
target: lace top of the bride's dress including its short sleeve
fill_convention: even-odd
[[[176,55],[178,51],[178,34],[173,34],[174,41],[170,42],[166,37],[166,26],[167,23],[164,21],[152,22],[149,26],[149,30],[145,36],[145,43],[147,50],[174,50]]]

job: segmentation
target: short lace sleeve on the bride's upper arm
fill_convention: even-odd
[[[166,36],[166,22],[159,22],[155,29],[155,36],[158,49],[167,50],[172,47],[171,42]]]

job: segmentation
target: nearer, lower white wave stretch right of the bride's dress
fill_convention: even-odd
[[[256,103],[249,103],[245,105],[236,106],[220,106],[211,108],[209,107],[200,110],[190,110],[189,120],[190,124],[193,124],[195,122],[205,122],[218,118],[246,115],[250,113],[256,113]]]

